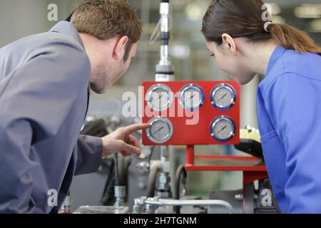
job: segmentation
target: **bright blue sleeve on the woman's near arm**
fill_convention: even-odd
[[[265,100],[286,152],[285,213],[321,213],[321,81],[286,73]]]

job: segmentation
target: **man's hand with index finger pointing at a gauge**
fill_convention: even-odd
[[[126,157],[132,154],[141,155],[138,140],[131,133],[137,130],[146,130],[149,127],[148,123],[129,125],[125,128],[118,128],[113,133],[103,137],[103,157],[107,157],[114,152],[121,152]]]

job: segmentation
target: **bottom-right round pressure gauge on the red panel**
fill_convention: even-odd
[[[228,142],[235,135],[235,124],[228,116],[215,118],[210,124],[210,135],[220,142]]]

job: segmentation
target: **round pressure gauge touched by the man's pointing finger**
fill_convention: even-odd
[[[156,117],[148,122],[151,128],[146,130],[148,138],[155,143],[164,143],[173,135],[173,125],[168,118]]]

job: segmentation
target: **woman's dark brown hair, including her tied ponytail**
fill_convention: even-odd
[[[202,32],[206,41],[223,43],[222,34],[245,37],[257,43],[273,39],[277,45],[300,53],[321,55],[321,48],[304,31],[289,25],[269,24],[265,31],[265,7],[262,0],[215,0],[203,18]]]

